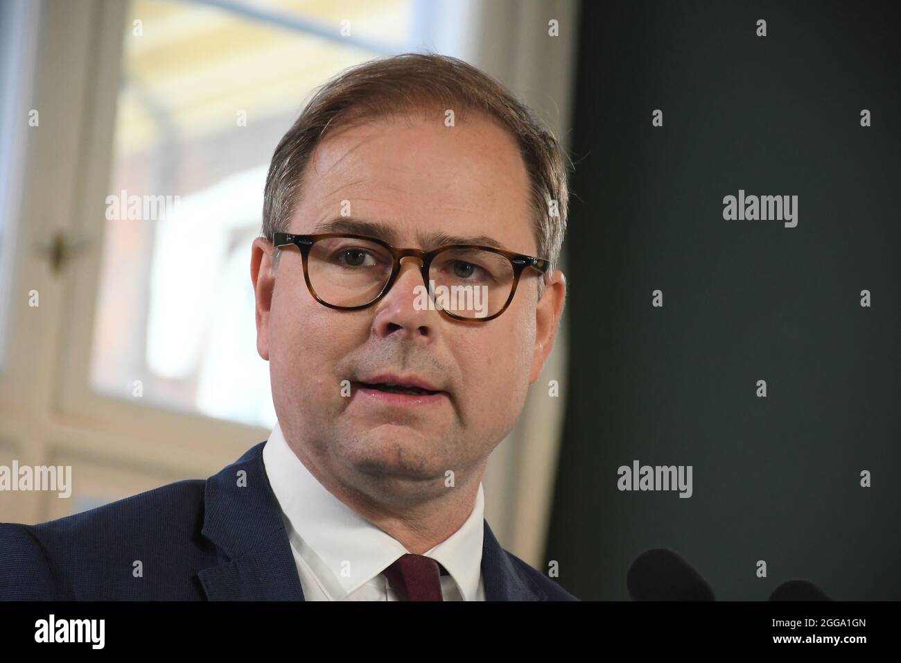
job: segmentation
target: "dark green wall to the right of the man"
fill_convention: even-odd
[[[895,3],[584,4],[546,550],[580,598],[626,599],[665,547],[719,599],[901,599],[899,28]],[[724,220],[739,189],[797,195],[798,225]],[[635,459],[692,465],[693,496],[620,492]]]

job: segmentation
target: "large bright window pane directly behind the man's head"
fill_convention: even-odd
[[[146,405],[269,427],[249,269],[269,159],[314,87],[406,50],[415,5],[234,5],[132,4],[91,383]],[[349,39],[315,32],[340,35],[344,20]]]

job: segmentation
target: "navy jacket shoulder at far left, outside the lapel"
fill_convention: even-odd
[[[0,524],[0,599],[191,598],[186,586],[214,556],[200,535],[204,486],[179,481],[38,525]]]

